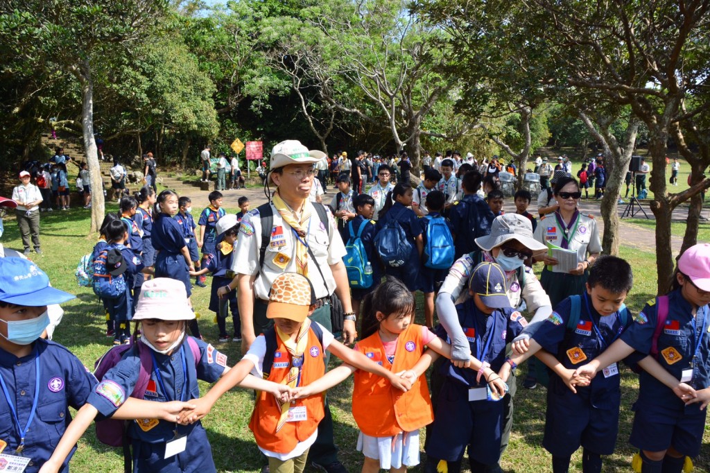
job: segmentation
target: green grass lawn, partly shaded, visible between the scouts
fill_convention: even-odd
[[[116,210],[116,206],[109,206]],[[236,209],[229,209],[234,212]],[[41,239],[45,256],[33,259],[43,268],[53,283],[62,290],[77,295],[63,305],[64,320],[55,332],[55,341],[65,344],[89,368],[110,346],[111,339],[104,336],[104,314],[97,303],[92,290],[77,286],[73,272],[81,256],[92,250],[94,237],[87,237],[89,228],[89,213],[82,209],[72,209],[67,212],[42,214]],[[21,248],[18,229],[13,218],[5,220],[5,234],[2,239],[7,247]],[[646,300],[655,294],[655,266],[653,254],[622,248],[622,254],[632,265],[635,276],[635,286],[627,299],[631,310],[638,311]],[[234,343],[216,343],[217,325],[214,314],[207,311],[209,288],[195,288],[193,303],[197,312],[201,313],[200,327],[204,336],[229,357],[229,364],[239,359],[239,345]],[[422,305],[420,304],[421,308]],[[423,323],[423,315],[417,313],[417,322]],[[228,323],[231,323],[229,321]],[[525,374],[525,366],[520,369],[519,376]],[[616,453],[605,459],[606,472],[618,470],[630,471],[630,460],[633,448],[628,445],[633,413],[631,406],[636,398],[638,381],[628,370],[622,370],[622,403],[620,433]],[[204,393],[207,384],[202,383]],[[349,379],[329,393],[335,425],[336,443],[340,447],[340,459],[351,472],[359,472],[363,457],[357,452],[356,440],[358,430],[351,415],[350,394],[352,381]],[[207,418],[204,427],[207,429],[212,443],[212,453],[219,472],[258,472],[261,468],[261,455],[253,442],[253,437],[247,424],[253,406],[252,393],[243,389],[234,389],[224,396]],[[503,455],[503,468],[508,472],[542,472],[550,471],[550,455],[542,448],[542,432],[545,420],[545,389],[537,388],[528,391],[518,387],[515,398],[515,423],[510,439],[510,446]],[[574,421],[574,420],[570,420]],[[421,440],[423,444],[424,433]],[[710,435],[705,435],[704,446],[696,461],[696,471],[710,471],[710,448],[707,442]],[[423,455],[422,455],[423,460]],[[119,472],[123,458],[119,449],[100,445],[94,438],[93,428],[89,428],[80,441],[77,453],[72,460],[72,472]],[[464,462],[465,463],[465,462]],[[307,469],[312,472],[314,470]],[[581,455],[573,457],[572,471],[581,471]]]

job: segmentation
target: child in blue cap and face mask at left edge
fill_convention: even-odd
[[[70,423],[69,406],[83,406],[97,384],[69,350],[42,338],[47,305],[74,297],[31,261],[0,258],[0,458],[17,471],[38,471]],[[58,470],[68,472],[67,462]]]

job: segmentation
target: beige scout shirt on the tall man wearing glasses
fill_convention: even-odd
[[[333,215],[328,207],[325,207],[328,214],[328,221],[321,222],[318,212],[311,202],[305,202],[305,206],[310,206],[310,220],[307,224],[306,242],[310,246],[313,255],[323,272],[327,287],[320,276],[315,262],[308,255],[308,278],[315,290],[316,298],[324,298],[331,295],[335,290],[335,279],[330,269],[330,265],[342,262],[345,256],[345,245],[340,234],[335,228]],[[268,293],[271,290],[271,283],[281,273],[297,272],[296,268],[296,245],[297,242],[293,229],[283,221],[277,210],[273,210],[273,227],[271,228],[271,239],[266,245],[263,266],[259,268],[259,249],[261,248],[261,218],[258,209],[250,210],[241,220],[239,226],[239,239],[236,241],[234,249],[234,259],[232,260],[232,271],[239,274],[256,276],[253,290],[256,298],[268,301]],[[329,226],[329,230],[326,225]]]

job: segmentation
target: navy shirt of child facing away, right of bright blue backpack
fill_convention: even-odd
[[[476,194],[464,195],[463,199],[454,203],[448,213],[452,234],[456,237],[456,259],[479,249],[474,239],[491,233],[491,224],[496,218],[486,201]]]

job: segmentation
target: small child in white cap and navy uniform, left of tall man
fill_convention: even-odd
[[[202,271],[195,273],[195,276],[212,273],[212,291],[209,295],[209,310],[217,314],[217,327],[219,327],[219,342],[229,342],[229,335],[226,333],[227,309],[231,311],[232,322],[234,323],[234,333],[232,342],[241,342],[241,321],[239,320],[239,308],[236,304],[236,290],[226,287],[234,279],[234,272],[231,271],[232,256],[234,255],[234,242],[237,232],[239,232],[239,222],[234,214],[227,214],[217,222],[217,246],[214,254],[209,255],[205,260],[205,267]],[[220,288],[228,290],[226,294],[218,295]],[[224,307],[227,305],[228,307]]]

